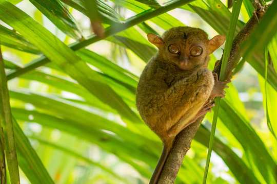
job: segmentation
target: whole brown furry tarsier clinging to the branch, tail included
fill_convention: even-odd
[[[150,183],[156,183],[172,148],[174,136],[214,106],[210,98],[225,97],[230,81],[220,82],[207,68],[210,54],[224,35],[208,39],[205,31],[176,27],[162,37],[148,34],[159,52],[146,65],[136,90],[136,106],[164,149]]]

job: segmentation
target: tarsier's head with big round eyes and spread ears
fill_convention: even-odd
[[[162,37],[149,33],[148,40],[159,49],[159,56],[168,63],[188,71],[196,67],[207,67],[209,55],[225,41],[224,35],[208,39],[199,28],[176,27],[166,31]]]

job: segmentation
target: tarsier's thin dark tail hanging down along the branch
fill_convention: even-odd
[[[169,151],[170,151],[170,149],[167,148],[166,146],[164,146],[162,155],[159,159],[159,162],[157,163],[157,166],[156,166],[155,171],[150,179],[149,184],[156,184],[157,181],[159,180],[159,177],[160,177],[163,167],[165,165],[166,159],[168,157]]]

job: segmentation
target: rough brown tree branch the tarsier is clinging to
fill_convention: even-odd
[[[249,21],[244,25],[244,27],[238,33],[238,35],[236,35],[236,37],[234,38],[227,65],[225,79],[231,78],[233,68],[236,66],[236,64],[238,64],[240,58],[243,55],[243,51],[240,50],[240,45],[243,41],[249,38],[249,35],[253,32],[255,26],[258,24],[258,19],[261,19],[262,16],[265,14],[266,8],[267,7],[258,6],[258,9],[256,10],[256,16],[253,15],[249,19]],[[221,63],[222,59],[213,70],[213,73],[217,73],[218,76],[220,75]],[[193,124],[189,125],[186,129],[184,129],[176,135],[174,145],[169,153],[159,181],[157,182],[158,184],[174,183],[177,174],[182,166],[184,156],[190,149],[192,139],[195,136],[195,133],[198,130],[204,118],[205,115],[197,119]]]

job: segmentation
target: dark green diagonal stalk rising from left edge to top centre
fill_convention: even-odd
[[[82,48],[87,47],[88,45],[95,43],[97,41],[100,41],[102,39],[105,39],[108,36],[111,36],[113,34],[119,33],[121,31],[124,31],[128,28],[131,28],[137,24],[140,24],[148,19],[151,19],[155,16],[159,16],[163,13],[166,13],[170,10],[173,10],[175,8],[181,7],[185,4],[188,4],[190,2],[193,2],[195,0],[180,0],[177,2],[174,2],[172,4],[166,5],[164,7],[161,7],[159,9],[149,9],[146,10],[142,13],[139,13],[133,17],[128,18],[127,20],[125,20],[125,22],[123,24],[115,24],[113,26],[110,26],[108,28],[105,29],[105,36],[103,38],[100,38],[96,35],[91,35],[88,39],[85,40],[79,40],[79,41],[75,41],[74,43],[71,43],[68,45],[68,47],[70,49],[72,49],[73,51],[77,51],[80,50]],[[28,63],[25,67],[23,68],[19,68],[18,70],[13,70],[10,71],[7,75],[8,80],[11,80],[19,75],[25,74],[39,66],[42,66],[44,64],[47,64],[48,62],[50,62],[50,60],[48,58],[46,58],[45,56],[42,56],[38,59],[33,60],[32,62]]]

